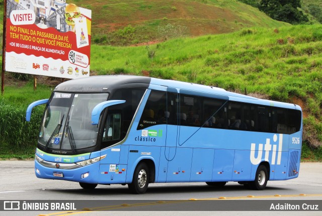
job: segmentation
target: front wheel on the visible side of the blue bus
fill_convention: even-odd
[[[145,163],[140,163],[136,166],[133,174],[132,183],[128,187],[132,193],[142,194],[147,190],[149,184],[149,169]]]

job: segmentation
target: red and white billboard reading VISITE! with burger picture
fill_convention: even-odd
[[[6,71],[89,76],[91,17],[65,0],[7,0]]]

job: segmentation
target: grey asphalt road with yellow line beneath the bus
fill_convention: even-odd
[[[95,190],[88,191],[82,189],[77,182],[36,178],[34,161],[0,161],[0,179],[0,200],[2,201],[71,200],[72,202],[88,200],[86,206],[89,207],[87,211],[80,209],[76,211],[3,211],[0,212],[2,215],[151,215],[152,210],[153,215],[163,216],[174,214],[186,216],[197,213],[191,210],[198,210],[198,214],[201,213],[201,215],[217,213],[220,215],[236,213],[249,215],[248,211],[239,210],[245,210],[245,208],[256,211],[266,210],[267,205],[271,206],[273,202],[276,206],[276,202],[285,205],[287,202],[293,203],[296,200],[302,200],[300,201],[301,207],[303,202],[317,204],[320,211],[304,212],[300,211],[303,210],[300,208],[300,210],[284,212],[285,215],[303,215],[303,213],[322,215],[322,163],[301,163],[298,178],[287,181],[269,181],[266,190],[263,191],[247,190],[243,185],[235,182],[228,182],[221,189],[212,188],[204,182],[155,183],[150,184],[147,192],[141,195],[130,194],[127,186],[122,185],[99,185]],[[207,201],[207,204],[207,202],[201,202],[200,199],[211,201]],[[236,202],[231,202],[231,200]],[[260,202],[257,203],[257,201]],[[204,208],[203,203],[206,203]],[[254,207],[251,207],[253,205]],[[95,209],[109,211],[91,211]],[[209,211],[213,209],[221,209],[221,211]],[[231,209],[237,209],[237,211],[229,211]],[[278,211],[261,211],[260,213],[261,215],[280,214]]]

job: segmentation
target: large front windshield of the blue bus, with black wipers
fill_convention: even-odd
[[[40,145],[74,153],[95,146],[98,125],[91,124],[92,111],[107,97],[108,93],[54,92],[41,124]]]

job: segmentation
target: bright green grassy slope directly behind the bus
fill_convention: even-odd
[[[98,74],[138,74],[260,93],[297,103],[304,139],[322,142],[322,26],[244,29],[140,47],[92,47]],[[154,53],[154,55],[153,55]]]

